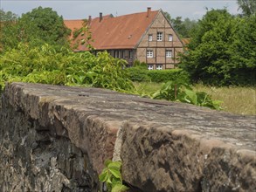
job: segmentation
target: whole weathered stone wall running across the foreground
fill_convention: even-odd
[[[97,191],[112,158],[134,191],[256,190],[255,117],[24,83],[1,101],[0,191]]]

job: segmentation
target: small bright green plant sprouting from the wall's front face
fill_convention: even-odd
[[[106,182],[107,190],[111,192],[127,191],[128,187],[122,184],[121,161],[105,161],[105,168],[99,176],[100,182]]]

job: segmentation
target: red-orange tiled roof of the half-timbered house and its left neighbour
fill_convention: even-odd
[[[134,13],[120,17],[104,16],[93,18],[90,23],[93,47],[96,50],[134,49],[142,35],[149,28],[159,10]],[[73,30],[82,27],[82,20],[66,20],[66,26]],[[79,37],[81,38],[81,37]],[[83,37],[84,38],[84,37]],[[86,45],[79,45],[78,51],[86,51]]]

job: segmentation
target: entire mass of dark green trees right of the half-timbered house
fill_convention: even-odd
[[[195,82],[218,86],[256,84],[253,29],[255,16],[239,18],[227,10],[208,11],[199,21],[180,66]],[[240,78],[246,77],[247,72],[248,80]]]

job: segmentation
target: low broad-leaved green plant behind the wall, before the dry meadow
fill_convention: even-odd
[[[212,100],[211,96],[204,92],[195,92],[192,88],[181,82],[169,81],[156,93],[152,94],[153,99],[166,99],[171,101],[181,101],[196,106],[206,106],[220,110],[221,101]]]

